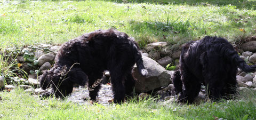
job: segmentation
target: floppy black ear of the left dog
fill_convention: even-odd
[[[68,78],[71,82],[81,86],[85,85],[87,82],[87,75],[81,68],[71,68],[68,72]]]

